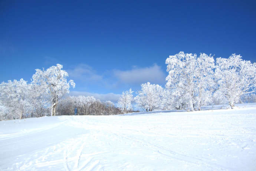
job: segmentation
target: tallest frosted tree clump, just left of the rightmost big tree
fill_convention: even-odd
[[[166,59],[168,76],[166,88],[177,98],[175,108],[188,107],[200,110],[210,98],[213,84],[214,59],[207,54],[184,54],[180,52]]]

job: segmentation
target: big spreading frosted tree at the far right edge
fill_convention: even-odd
[[[240,55],[217,58],[215,77],[219,91],[227,98],[231,108],[241,95],[256,92],[256,63],[242,60]]]

